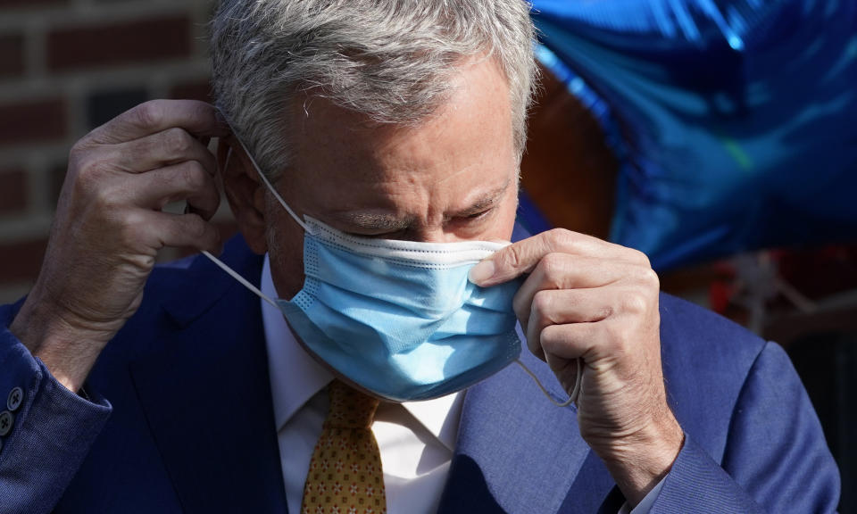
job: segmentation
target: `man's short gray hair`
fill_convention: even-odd
[[[216,104],[276,178],[290,162],[297,93],[414,125],[448,98],[462,59],[486,54],[509,83],[520,157],[537,82],[529,9],[526,0],[221,0],[211,25]]]

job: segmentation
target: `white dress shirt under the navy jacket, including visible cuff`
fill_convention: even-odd
[[[265,256],[262,293],[278,297]],[[262,323],[280,464],[291,514],[299,514],[312,451],[328,413],[328,369],[295,341],[282,313],[262,301]],[[378,440],[389,514],[434,514],[458,436],[464,392],[425,402],[381,402],[372,432]],[[645,514],[661,484],[630,514]],[[648,501],[648,502],[647,502]],[[641,509],[643,508],[643,509]],[[620,514],[627,514],[627,506]]]

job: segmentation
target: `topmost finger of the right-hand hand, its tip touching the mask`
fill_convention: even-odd
[[[648,258],[637,250],[614,245],[593,236],[554,228],[506,246],[470,269],[470,281],[478,286],[494,286],[532,271],[548,253],[570,253],[648,266]]]

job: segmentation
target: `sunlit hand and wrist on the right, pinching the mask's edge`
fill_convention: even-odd
[[[658,276],[637,250],[557,228],[495,253],[470,279],[494,286],[526,273],[514,308],[529,350],[569,393],[580,359],[580,434],[637,505],[684,440],[663,384]]]

